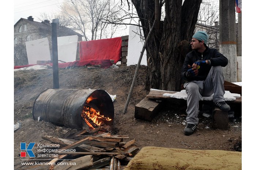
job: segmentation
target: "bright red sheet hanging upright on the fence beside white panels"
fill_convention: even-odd
[[[109,59],[114,60],[114,64],[116,64],[118,61],[121,61],[121,45],[121,37],[102,40],[80,41],[80,60]]]

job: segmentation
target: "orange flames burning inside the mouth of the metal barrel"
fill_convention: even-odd
[[[84,118],[85,122],[93,129],[95,128],[91,125],[90,121],[87,120],[85,116],[83,116],[84,114],[86,114],[93,121],[93,123],[97,124],[98,126],[104,123],[104,121],[112,120],[109,117],[105,118],[104,115],[101,115],[99,111],[95,110],[94,108],[84,106],[82,111],[82,117]]]

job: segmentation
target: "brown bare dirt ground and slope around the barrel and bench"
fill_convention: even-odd
[[[194,134],[183,134],[186,117],[185,108],[177,103],[168,103],[161,112],[147,122],[134,118],[135,105],[146,97],[146,66],[141,66],[129,102],[127,113],[123,114],[136,66],[119,68],[74,67],[59,70],[60,88],[102,89],[116,95],[112,134],[129,135],[135,139],[140,149],[144,146],[172,147],[192,150],[242,151],[241,111],[230,118],[228,130],[212,129],[212,118],[199,114],[199,126]],[[37,96],[46,88],[53,86],[52,69],[39,71],[14,72],[14,123],[20,122],[21,128],[14,132],[14,163],[20,158],[20,142],[47,143],[41,137],[52,135],[62,137],[67,127],[56,126],[50,122],[33,120],[32,109]],[[182,108],[182,109],[180,109]],[[232,108],[232,107],[231,107]]]

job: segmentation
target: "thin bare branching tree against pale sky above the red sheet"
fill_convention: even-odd
[[[61,6],[61,16],[68,20],[69,28],[78,31],[84,40],[112,37],[119,25],[104,22],[119,14],[114,0],[67,0]]]

